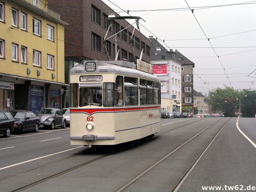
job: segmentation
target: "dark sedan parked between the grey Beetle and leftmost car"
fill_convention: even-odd
[[[14,132],[20,134],[23,131],[38,131],[40,125],[40,117],[36,116],[32,111],[11,110],[10,113],[14,118]]]

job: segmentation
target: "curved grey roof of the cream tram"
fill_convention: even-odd
[[[115,73],[115,74],[122,74],[122,75],[139,76],[139,77],[143,77],[143,78],[152,79],[154,81],[159,81],[158,77],[153,74],[137,70],[136,67],[128,68],[128,67],[119,66],[118,62],[117,62],[117,64],[116,64],[116,62],[113,62],[115,64],[111,64],[111,63],[109,63],[110,61],[96,61],[96,60],[95,61],[86,61],[86,62],[95,62],[96,70],[88,72],[85,70],[85,65],[79,65],[79,66],[73,67],[70,70],[70,74],[81,74],[82,75],[82,74],[94,74],[94,73],[101,73],[101,74],[102,73]],[[123,61],[120,61],[120,64],[122,62]]]

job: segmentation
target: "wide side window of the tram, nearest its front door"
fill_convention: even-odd
[[[124,77],[124,105],[138,105],[138,78]]]

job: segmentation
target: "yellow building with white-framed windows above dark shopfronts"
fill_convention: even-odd
[[[47,0],[0,0],[0,109],[64,107],[64,26]]]

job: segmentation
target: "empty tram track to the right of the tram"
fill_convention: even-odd
[[[228,119],[228,121],[231,118]],[[178,146],[177,148],[175,148],[174,150],[172,150],[170,153],[168,153],[167,155],[165,155],[164,157],[162,157],[161,159],[159,159],[156,163],[152,164],[151,166],[149,166],[147,169],[145,169],[144,171],[142,171],[140,174],[138,174],[136,177],[134,177],[133,179],[131,179],[129,182],[127,182],[125,185],[123,185],[121,188],[117,189],[115,192],[122,192],[124,191],[126,188],[128,188],[129,186],[131,186],[134,182],[136,182],[137,180],[139,180],[143,175],[145,175],[146,173],[148,173],[150,170],[152,170],[154,167],[156,167],[158,164],[160,164],[162,161],[164,161],[165,159],[167,159],[168,157],[170,157],[172,154],[174,154],[176,151],[178,151],[180,148],[182,148],[183,146],[185,146],[186,144],[188,144],[189,141],[193,140],[194,138],[196,138],[198,135],[200,135],[202,132],[204,132],[205,130],[207,130],[209,127],[211,127],[212,125],[216,124],[217,122],[219,122],[221,119],[219,119],[218,121],[212,123],[211,125],[207,126],[206,128],[204,128],[202,131],[198,132],[196,135],[194,135],[193,137],[191,137],[190,139],[188,139],[187,141],[185,141],[184,143],[182,143],[180,146]],[[209,148],[209,146],[212,144],[213,140],[218,136],[218,134],[220,133],[220,131],[223,129],[223,127],[228,123],[228,121],[220,128],[220,130],[214,135],[214,137],[210,140],[210,142],[206,145],[206,147],[203,149],[203,151],[199,154],[199,156],[196,157],[195,161],[190,165],[190,167],[188,168],[188,170],[182,175],[182,177],[180,178],[180,180],[176,183],[176,185],[172,188],[171,192],[176,192],[178,191],[178,189],[180,188],[180,186],[182,185],[182,183],[186,180],[186,178],[188,177],[189,173],[193,170],[193,168],[195,167],[195,165],[198,163],[198,161],[201,159],[201,157],[204,155],[204,153],[206,152],[207,148]],[[193,122],[194,123],[194,122]],[[180,126],[182,127],[182,126]],[[177,127],[175,129],[178,129],[180,127]],[[173,131],[175,129],[169,130],[167,132]],[[164,133],[167,133],[164,132]],[[161,133],[161,134],[164,134]],[[160,136],[161,134],[157,135]]]

